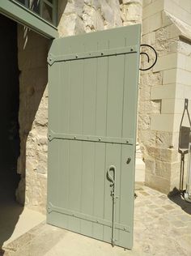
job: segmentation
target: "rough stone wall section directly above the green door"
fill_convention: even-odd
[[[142,22],[142,0],[60,0],[58,4],[60,36]]]

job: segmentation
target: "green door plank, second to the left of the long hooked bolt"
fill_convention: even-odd
[[[97,49],[96,41],[84,44],[84,51]],[[83,61],[83,134],[94,134],[96,129],[96,84],[97,60],[85,59]],[[83,177],[81,211],[93,215],[95,179],[95,143],[83,143]],[[92,236],[93,224],[81,220],[81,232]]]

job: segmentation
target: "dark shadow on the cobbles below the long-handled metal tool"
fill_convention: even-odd
[[[168,194],[168,198],[172,202],[180,206],[183,211],[191,215],[191,203],[185,201],[185,198],[183,197],[179,190],[174,188],[174,190],[172,190],[172,192]]]

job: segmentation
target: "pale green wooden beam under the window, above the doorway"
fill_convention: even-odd
[[[14,0],[1,0],[0,13],[50,39],[58,37],[57,27]]]

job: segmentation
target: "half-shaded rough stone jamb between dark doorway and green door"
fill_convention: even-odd
[[[19,203],[45,212],[47,178],[47,54],[49,41],[18,25]]]

